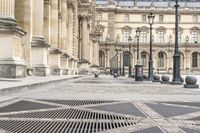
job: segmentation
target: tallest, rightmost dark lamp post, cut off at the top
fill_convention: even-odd
[[[174,6],[176,9],[175,17],[175,50],[173,56],[173,79],[172,84],[183,84],[181,82],[181,75],[180,75],[180,54],[179,54],[179,46],[178,46],[178,0],[176,0],[176,5]]]

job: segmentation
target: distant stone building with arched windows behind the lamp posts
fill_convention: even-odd
[[[175,43],[175,2],[171,0],[97,0],[96,20],[100,37],[101,71],[127,73],[129,59],[136,64],[136,29],[139,38],[140,63],[148,70],[150,32],[148,14],[155,15],[153,24],[153,62],[155,73],[172,73]],[[179,0],[181,74],[200,74],[200,2]],[[132,38],[129,51],[129,36]]]

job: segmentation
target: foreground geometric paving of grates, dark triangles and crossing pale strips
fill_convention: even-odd
[[[0,132],[200,133],[200,103],[24,99],[0,108]]]

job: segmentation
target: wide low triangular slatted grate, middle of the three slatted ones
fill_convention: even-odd
[[[7,118],[45,118],[45,119],[96,119],[96,120],[134,120],[132,117],[92,112],[80,109],[55,109],[38,112],[27,112],[2,115]]]

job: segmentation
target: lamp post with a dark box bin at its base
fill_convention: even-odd
[[[137,64],[135,65],[135,81],[143,81],[143,65],[139,61],[139,37],[141,30],[140,28],[136,29],[137,36]]]

